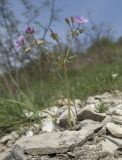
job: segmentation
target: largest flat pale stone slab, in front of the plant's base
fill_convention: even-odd
[[[31,155],[65,153],[93,136],[93,130],[64,131],[22,137],[15,145]]]

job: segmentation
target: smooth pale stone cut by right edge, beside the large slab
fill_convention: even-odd
[[[109,122],[106,124],[106,128],[109,130],[109,132],[118,138],[122,138],[122,127],[120,127],[119,125],[116,125],[112,122]]]

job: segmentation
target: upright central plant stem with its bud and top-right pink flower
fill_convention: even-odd
[[[66,82],[66,92],[67,92],[67,97],[68,97],[68,125],[69,125],[69,128],[71,129],[72,121],[71,121],[71,108],[70,108],[70,84],[69,84],[69,79],[67,75],[67,67],[68,67],[68,63],[70,63],[70,60],[75,57],[75,56],[70,56],[70,50],[73,44],[73,40],[76,36],[78,36],[84,31],[84,29],[80,27],[81,25],[88,23],[88,20],[85,19],[84,17],[74,16],[70,18],[65,18],[65,22],[69,26],[69,29],[70,29],[70,35],[69,35],[70,40],[69,40],[69,45],[66,51],[63,52],[58,57],[58,61],[59,61],[58,64],[61,65],[64,70],[64,76],[65,76],[65,82]],[[63,47],[60,43],[58,34],[51,30],[50,35],[57,42],[58,46],[61,48],[61,51],[63,51]]]

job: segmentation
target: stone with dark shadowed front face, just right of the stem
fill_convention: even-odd
[[[101,122],[106,117],[105,113],[97,113],[93,109],[91,109],[89,106],[85,107],[81,112],[78,113],[77,119],[79,121],[83,121],[85,119],[91,119],[94,121]]]

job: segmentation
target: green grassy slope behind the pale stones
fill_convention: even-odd
[[[79,55],[68,72],[71,98],[84,100],[90,95],[113,92],[115,89],[122,90],[121,53],[121,44],[103,41],[97,45],[97,49],[92,46],[85,54]],[[12,94],[1,78],[0,127],[13,127],[38,121],[36,115],[34,120],[26,118],[23,111],[41,110],[54,105],[57,99],[66,98],[64,76],[61,71],[59,76],[39,73],[39,69],[34,69],[32,65],[20,71],[20,88],[26,96],[16,87],[11,90]],[[116,73],[118,76],[114,79],[112,74]],[[9,79],[9,76],[7,78]],[[10,86],[11,84],[12,82]]]

